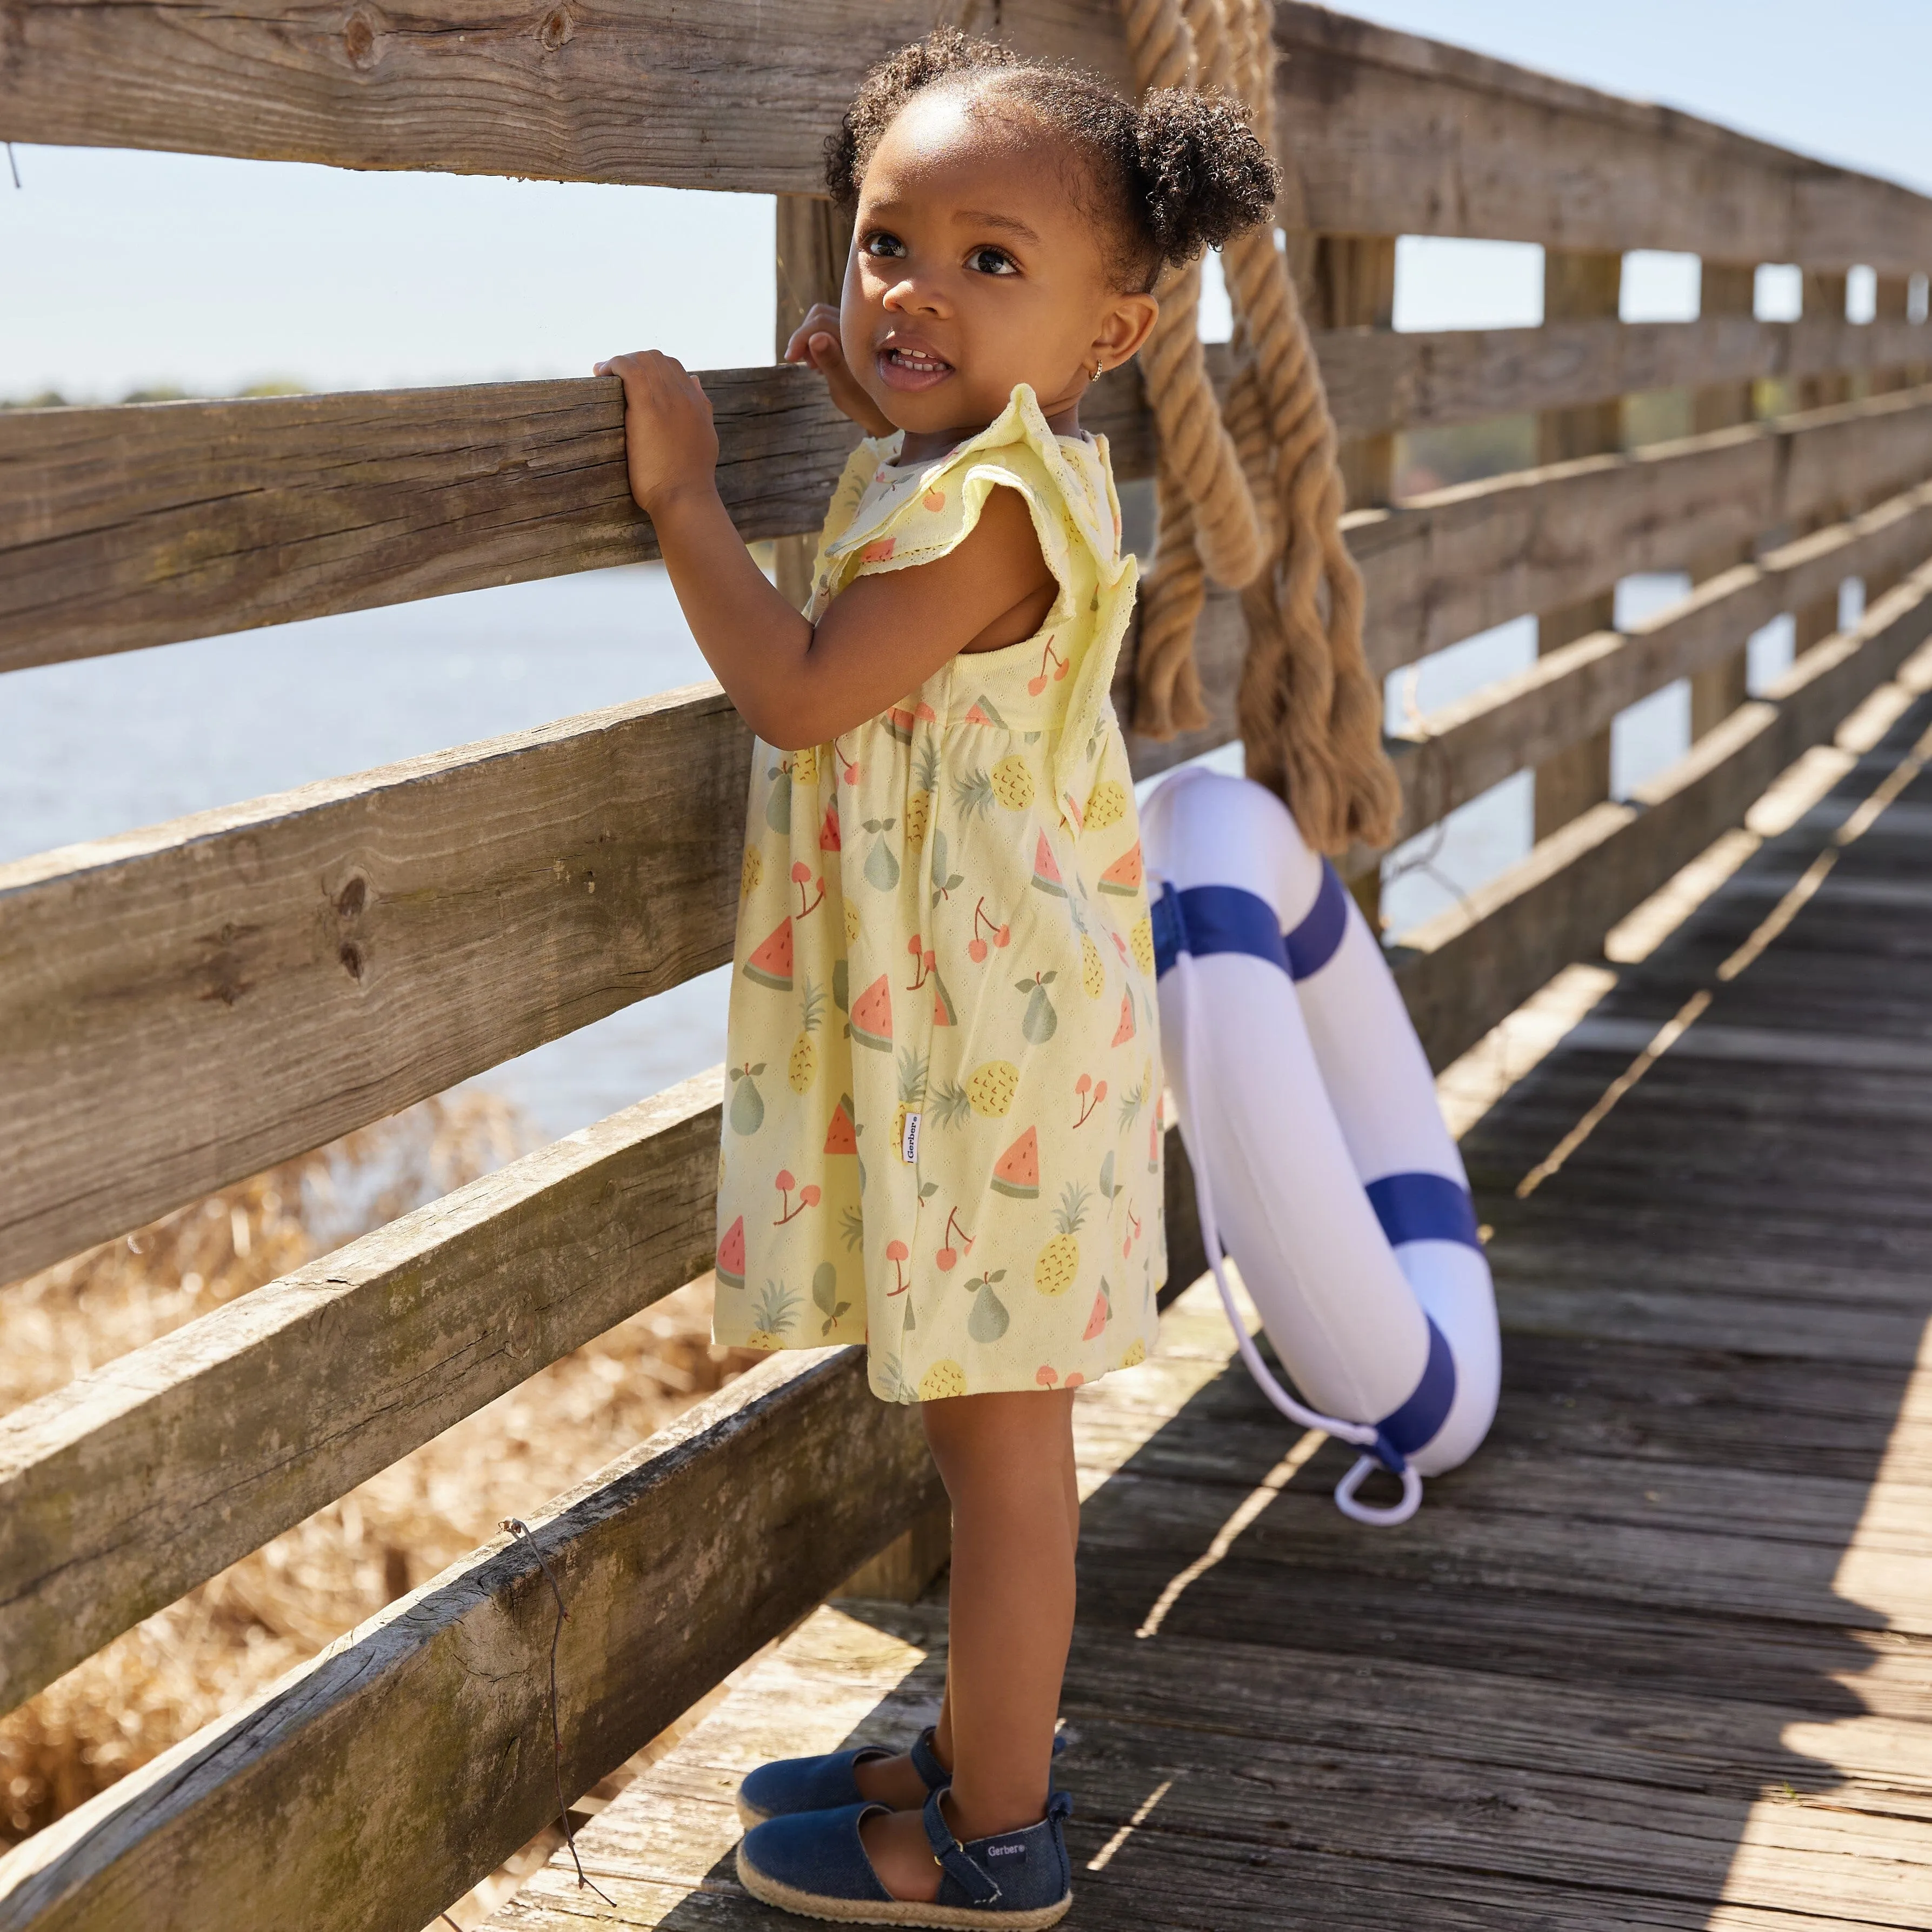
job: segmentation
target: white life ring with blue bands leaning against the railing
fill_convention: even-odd
[[[1273,792],[1200,767],[1142,811],[1161,1051],[1202,1240],[1267,1399],[1364,1449],[1335,1490],[1403,1522],[1495,1416],[1501,1339],[1468,1177],[1401,993],[1335,867]],[[1240,1264],[1269,1374],[1223,1273]],[[1374,1509],[1376,1466],[1403,1482]]]

